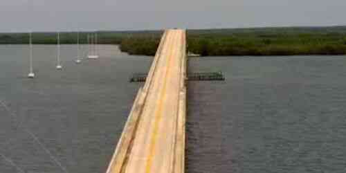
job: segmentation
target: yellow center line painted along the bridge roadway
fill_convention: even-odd
[[[172,33],[172,34],[175,34],[176,32]],[[175,39],[172,40],[172,42],[174,43]],[[165,96],[166,96],[166,88],[167,88],[167,78],[168,78],[168,75],[170,73],[170,64],[172,62],[172,53],[173,53],[173,50],[172,50],[172,46],[174,46],[174,44],[171,44],[170,46],[170,56],[168,57],[168,65],[167,65],[167,70],[166,70],[166,73],[165,73],[165,78],[163,78],[163,91],[160,95],[160,100],[158,102],[158,109],[156,109],[156,112],[155,112],[155,122],[154,122],[154,131],[153,131],[153,137],[152,137],[152,140],[150,145],[149,145],[149,156],[148,156],[148,159],[147,159],[147,166],[145,167],[145,172],[146,173],[151,173],[150,170],[152,169],[152,158],[154,156],[154,147],[156,145],[156,140],[157,140],[157,135],[158,135],[158,125],[159,125],[159,122],[161,121],[161,118],[162,118],[162,111],[163,111],[163,100],[165,100]]]

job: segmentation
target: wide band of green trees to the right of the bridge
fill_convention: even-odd
[[[213,55],[343,55],[346,27],[189,30],[188,49]]]

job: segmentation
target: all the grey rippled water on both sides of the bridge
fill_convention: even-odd
[[[104,172],[152,58],[100,46],[0,46],[0,172]],[[86,46],[83,46],[84,57]],[[208,57],[190,71],[226,82],[189,82],[187,172],[346,172],[346,58]]]

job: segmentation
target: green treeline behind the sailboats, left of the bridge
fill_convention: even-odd
[[[80,33],[80,44],[87,44],[88,32]],[[160,43],[161,30],[99,31],[98,44],[118,44],[121,51],[136,55],[154,55]],[[0,44],[28,44],[28,33],[0,33]],[[61,44],[76,44],[77,33],[60,33]],[[56,33],[33,33],[33,44],[57,44]]]

